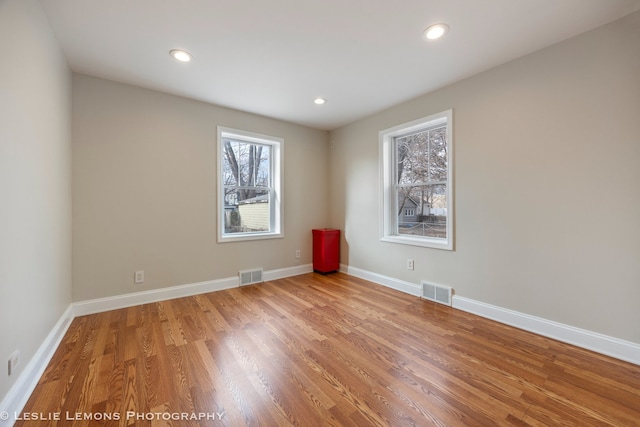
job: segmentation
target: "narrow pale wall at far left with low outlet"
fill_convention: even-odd
[[[71,302],[71,75],[37,1],[0,1],[0,52],[1,401]]]

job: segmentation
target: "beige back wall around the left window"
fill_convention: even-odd
[[[284,238],[216,243],[218,125],[284,138]],[[74,75],[73,155],[74,301],[311,263],[327,225],[324,131]]]

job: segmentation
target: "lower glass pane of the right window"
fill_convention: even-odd
[[[398,187],[400,235],[447,237],[447,186]]]

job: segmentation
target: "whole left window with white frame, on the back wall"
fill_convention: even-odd
[[[218,241],[282,237],[283,140],[218,126]]]

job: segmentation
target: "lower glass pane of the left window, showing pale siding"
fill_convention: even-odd
[[[225,233],[269,231],[271,223],[269,190],[225,188]]]

